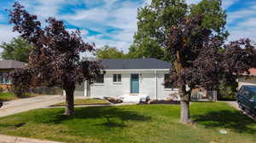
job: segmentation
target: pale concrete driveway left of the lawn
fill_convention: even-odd
[[[64,101],[65,96],[62,95],[42,95],[20,100],[10,100],[3,102],[3,107],[0,109],[0,117],[26,112],[32,109],[44,108]]]

